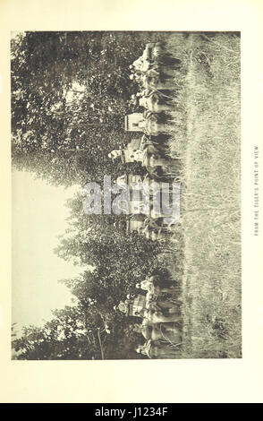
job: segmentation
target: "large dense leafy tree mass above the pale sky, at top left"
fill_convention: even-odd
[[[66,186],[122,174],[107,155],[130,139],[123,117],[138,50],[108,32],[26,32],[11,48],[14,165]]]

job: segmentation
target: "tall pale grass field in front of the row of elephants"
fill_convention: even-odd
[[[170,142],[183,168],[178,357],[242,357],[240,38],[174,33],[166,43],[183,64]]]

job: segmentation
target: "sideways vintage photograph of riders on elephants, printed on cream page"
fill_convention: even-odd
[[[242,358],[241,41],[12,31],[13,360]]]

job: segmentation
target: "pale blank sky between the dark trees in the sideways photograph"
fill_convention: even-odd
[[[57,280],[78,276],[83,268],[53,250],[67,228],[64,203],[77,188],[50,186],[31,173],[13,170],[12,322],[18,333],[21,326],[50,320],[51,309],[72,305],[72,294]]]

